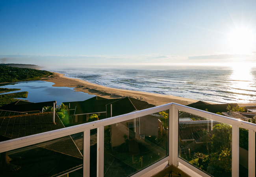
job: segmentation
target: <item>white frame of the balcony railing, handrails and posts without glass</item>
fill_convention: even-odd
[[[206,112],[206,111],[202,111],[202,110],[198,110],[195,108],[191,108],[191,107],[187,107],[184,105],[180,105],[177,103],[168,103],[165,105],[161,105],[161,106],[157,106],[157,107],[153,107],[153,108],[149,108],[149,109],[144,109],[141,111],[136,111],[136,112],[131,112],[128,114],[123,114],[120,116],[115,116],[115,117],[111,117],[111,118],[106,118],[103,120],[98,120],[95,122],[89,122],[86,124],[80,124],[80,125],[75,125],[72,127],[66,127],[63,129],[57,129],[57,130],[53,130],[53,131],[48,131],[45,133],[39,133],[36,135],[30,135],[30,136],[25,136],[22,138],[16,138],[13,140],[7,140],[4,142],[0,142],[0,153],[5,152],[5,151],[10,151],[13,149],[18,149],[21,147],[26,147],[26,146],[30,146],[33,144],[37,144],[40,142],[45,142],[48,140],[53,140],[56,138],[60,138],[63,136],[68,136],[68,135],[72,135],[75,133],[80,133],[80,132],[84,132],[85,137],[84,140],[87,142],[87,145],[84,145],[84,157],[85,159],[83,160],[83,162],[89,162],[89,147],[88,143],[90,140],[90,130],[91,129],[98,129],[98,148],[100,149],[98,152],[98,159],[101,160],[102,162],[98,162],[97,165],[97,169],[98,169],[98,174],[100,174],[100,176],[103,176],[103,156],[104,156],[104,152],[102,151],[104,148],[104,126],[107,125],[111,125],[111,124],[115,124],[115,123],[119,123],[119,122],[123,122],[123,121],[127,121],[127,120],[131,120],[134,118],[138,118],[138,117],[142,117],[142,116],[146,116],[149,114],[153,114],[156,112],[160,112],[160,111],[165,111],[165,110],[169,110],[169,156],[165,157],[164,159],[160,160],[160,162],[158,162],[157,164],[151,165],[148,168],[146,168],[143,171],[148,171],[147,169],[151,169],[156,165],[159,165],[161,162],[166,161],[169,159],[169,164],[174,164],[174,165],[178,165],[178,162],[182,161],[182,163],[185,163],[186,166],[188,168],[190,168],[191,170],[195,170],[195,167],[193,167],[191,164],[189,164],[188,162],[186,162],[185,160],[179,159],[178,157],[178,111],[185,111],[191,114],[195,114],[198,116],[202,116],[204,118],[208,118],[211,120],[215,120],[218,122],[223,122],[225,124],[229,124],[233,126],[233,129],[236,129],[236,131],[239,131],[239,127],[241,128],[245,128],[245,129],[249,129],[249,154],[252,157],[249,157],[249,174],[254,174],[254,166],[255,166],[255,132],[256,132],[256,124],[252,124],[249,122],[245,122],[242,120],[237,120],[234,118],[229,118],[226,116],[221,116],[218,114],[213,114],[211,112]],[[86,133],[85,133],[86,132]],[[233,134],[234,132],[232,132]],[[236,143],[235,143],[236,142]],[[239,151],[239,133],[236,132],[236,135],[232,135],[232,146],[233,146],[233,150],[237,149],[237,151]],[[236,146],[236,147],[234,147]],[[237,157],[238,156],[238,157]],[[84,168],[85,168],[85,164]],[[238,166],[239,165],[239,153],[232,153],[232,167]],[[87,171],[87,175],[89,174],[88,169],[89,166],[86,166],[86,169],[84,169],[84,172]],[[234,171],[233,171],[234,170]],[[143,171],[139,172],[139,174],[142,174]],[[239,172],[239,169],[233,169],[232,168],[232,174],[233,176],[235,176],[237,173]],[[203,174],[203,173],[200,173]],[[136,176],[136,175],[135,175]],[[205,175],[207,176],[207,175]]]

